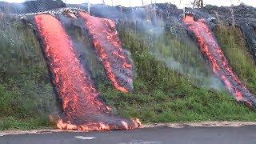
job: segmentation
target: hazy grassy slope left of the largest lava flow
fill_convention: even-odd
[[[0,130],[49,126],[54,94],[32,30],[0,20]]]

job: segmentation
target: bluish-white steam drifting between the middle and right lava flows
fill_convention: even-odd
[[[225,90],[219,78],[216,78],[211,72],[210,64],[206,62],[206,59],[202,58],[202,54],[199,50],[195,50],[198,49],[198,47],[194,46],[194,42],[190,40],[188,35],[182,35],[182,31],[186,31],[182,29],[184,26],[182,26],[182,22],[180,21],[180,18],[182,18],[182,10],[178,10],[177,7],[172,5],[170,5],[170,7],[172,11],[167,10],[167,12],[164,12],[159,10],[161,6],[159,7],[156,4],[134,8],[93,5],[91,6],[91,11],[94,11],[95,13],[93,14],[96,16],[134,23],[138,33],[147,35],[147,43],[151,45],[150,53],[159,61],[164,62],[171,70],[189,78],[197,79],[200,82],[200,84],[198,84],[199,86],[214,90]],[[161,52],[158,41],[166,34],[166,25],[170,26],[167,33],[173,34],[180,43],[186,46],[193,45],[190,50],[197,51],[198,54],[194,54],[192,58],[198,59],[197,62],[199,62],[199,64],[195,63],[195,66],[190,66],[191,62],[182,62],[181,59],[187,59],[188,57],[186,53],[180,54],[180,58],[178,59],[175,58],[174,54],[171,53],[173,50],[178,49],[177,47],[168,46],[170,50],[166,52],[170,53],[170,55]]]

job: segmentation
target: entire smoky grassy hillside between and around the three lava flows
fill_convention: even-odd
[[[75,46],[88,48],[79,53],[86,57],[87,69],[102,99],[114,114],[139,118],[142,123],[255,121],[254,107],[236,102],[234,94],[226,90],[225,82],[214,74],[198,39],[178,19],[180,10],[166,6],[159,4],[155,14],[148,13],[148,6],[109,16],[118,18],[118,36],[134,62],[134,90],[130,93],[114,88],[95,54],[88,31],[81,30],[75,22],[65,25]],[[256,12],[245,6],[250,12],[238,15],[240,8],[234,13],[234,26],[226,13],[219,13],[221,17],[209,24],[234,73],[251,94],[256,94],[256,38],[253,37]],[[206,6],[203,10],[188,11],[207,19],[213,14],[203,12],[211,9]],[[226,10],[220,11],[223,9]],[[161,13],[162,10],[169,11]],[[141,15],[134,18],[138,13]],[[97,7],[92,7],[92,15],[108,18],[101,14]],[[247,29],[251,28],[254,31],[249,34]],[[56,97],[52,74],[33,26],[27,25],[26,19],[24,22],[18,17],[2,15],[0,49],[0,130],[54,127],[49,115],[58,115],[62,104]]]

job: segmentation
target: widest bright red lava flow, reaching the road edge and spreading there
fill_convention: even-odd
[[[118,118],[100,98],[90,74],[81,65],[70,37],[61,22],[50,14],[34,17],[38,37],[53,75],[56,94],[62,100],[62,130],[128,130],[140,126],[138,120]]]

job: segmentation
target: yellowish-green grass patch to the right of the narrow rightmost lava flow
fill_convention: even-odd
[[[242,31],[237,27],[221,25],[215,30],[215,34],[238,77],[256,94],[256,66],[246,47]]]

